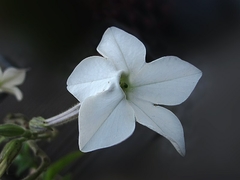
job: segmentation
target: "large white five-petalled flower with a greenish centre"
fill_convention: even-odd
[[[193,91],[202,73],[174,56],[145,62],[146,49],[134,36],[111,27],[97,51],[84,59],[67,81],[80,102],[79,147],[83,152],[118,144],[135,121],[166,137],[185,154],[178,118],[160,105],[177,105]]]

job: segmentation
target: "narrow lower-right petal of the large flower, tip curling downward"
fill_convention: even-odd
[[[167,138],[179,154],[185,155],[183,128],[171,111],[137,98],[131,99],[131,105],[137,122]]]

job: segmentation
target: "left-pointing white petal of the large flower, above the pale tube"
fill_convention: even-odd
[[[67,89],[80,102],[107,90],[113,79],[120,76],[114,65],[100,56],[81,61],[67,80]],[[120,78],[120,77],[119,77]]]

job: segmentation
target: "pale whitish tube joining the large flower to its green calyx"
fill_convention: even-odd
[[[80,106],[81,106],[80,103],[78,103],[77,105],[73,106],[67,111],[64,111],[61,114],[46,119],[45,120],[46,125],[58,126],[69,121],[72,121],[74,119],[77,119]]]

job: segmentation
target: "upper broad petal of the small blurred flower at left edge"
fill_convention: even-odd
[[[7,68],[3,73],[3,84],[7,87],[20,85],[26,77],[25,69]]]

